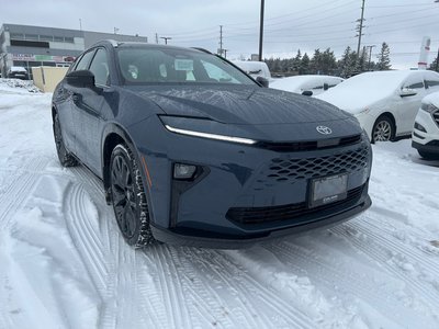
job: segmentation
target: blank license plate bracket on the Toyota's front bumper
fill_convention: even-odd
[[[348,196],[347,173],[313,179],[309,184],[309,208],[341,201]]]

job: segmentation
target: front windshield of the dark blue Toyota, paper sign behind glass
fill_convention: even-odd
[[[126,47],[117,50],[117,58],[126,84],[255,84],[227,61],[190,49]]]

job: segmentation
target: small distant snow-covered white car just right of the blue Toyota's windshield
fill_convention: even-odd
[[[344,80],[344,78],[333,76],[294,76],[277,79],[271,82],[270,88],[301,93],[304,95],[317,95],[327,91],[329,88],[336,87]]]

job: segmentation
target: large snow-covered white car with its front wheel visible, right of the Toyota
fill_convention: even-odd
[[[317,98],[353,114],[373,143],[410,135],[420,101],[435,91],[437,72],[375,71],[349,78]]]

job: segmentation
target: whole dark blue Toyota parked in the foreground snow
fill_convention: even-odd
[[[371,205],[357,120],[206,52],[101,42],[53,95],[63,166],[103,180],[125,240],[237,248]]]

